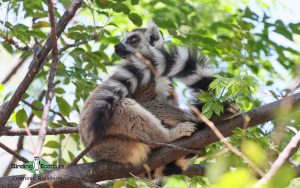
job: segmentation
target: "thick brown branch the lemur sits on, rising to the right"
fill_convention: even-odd
[[[300,105],[300,93],[291,95],[289,101],[292,103],[293,108]],[[264,106],[258,107],[256,109],[250,110],[239,116],[226,120],[222,123],[219,123],[217,126],[220,132],[224,136],[230,136],[233,134],[233,130],[237,127],[243,127],[244,124],[244,116],[249,116],[249,126],[255,126],[261,123],[265,123],[267,121],[273,120],[276,118],[275,111],[280,109],[281,104],[286,103],[286,99],[278,100]],[[181,147],[186,148],[193,148],[193,149],[201,149],[205,146],[218,141],[217,136],[213,131],[206,128],[201,131],[194,133],[191,137],[187,137],[184,139],[180,139],[173,144]],[[174,161],[184,155],[188,154],[187,152],[178,151],[173,148],[161,148],[150,156],[147,164],[151,169],[155,169],[159,166],[167,164],[171,161]],[[124,166],[112,162],[107,161],[98,161],[93,163],[87,164],[78,164],[72,165],[65,169],[56,170],[53,172],[47,172],[44,175],[48,177],[61,177],[62,181],[55,182],[54,185],[63,185],[65,188],[67,187],[74,187],[78,184],[73,183],[72,179],[80,178],[84,180],[88,180],[91,182],[103,181],[103,180],[111,180],[117,178],[126,178],[130,177],[130,173],[133,174],[140,174],[145,172],[143,167],[134,168],[132,166]],[[18,187],[21,180],[16,180],[16,177],[24,177],[24,176],[14,176],[14,181],[12,181],[13,176],[3,177],[0,178],[0,187]],[[37,183],[37,176],[36,180],[33,183]],[[41,187],[45,187],[42,186]]]

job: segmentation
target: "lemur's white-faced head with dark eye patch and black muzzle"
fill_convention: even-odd
[[[127,59],[136,52],[146,56],[151,55],[151,48],[163,48],[163,38],[153,21],[147,28],[138,28],[125,33],[122,42],[115,45],[115,52],[118,56]]]

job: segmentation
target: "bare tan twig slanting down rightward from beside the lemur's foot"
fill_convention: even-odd
[[[249,164],[249,166],[261,177],[264,176],[264,172],[258,168],[246,155],[244,155],[242,152],[240,152],[238,149],[236,149],[233,145],[231,145],[225,137],[222,135],[222,133],[218,130],[218,128],[215,126],[215,124],[211,121],[209,121],[204,115],[199,112],[199,110],[192,106],[191,107],[192,111],[197,115],[199,120],[202,120],[215,134],[216,136],[221,140],[221,142],[224,143],[224,145],[232,151],[234,154],[237,156],[241,157],[246,163]]]

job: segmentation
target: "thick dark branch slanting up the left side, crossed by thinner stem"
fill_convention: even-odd
[[[76,11],[79,9],[80,5],[81,0],[73,0],[70,8],[62,15],[62,17],[57,23],[57,38],[62,34],[67,24],[71,21]],[[43,48],[37,53],[37,55],[32,60],[31,69],[27,72],[25,78],[22,80],[14,95],[10,99],[8,105],[6,105],[0,111],[0,127],[5,126],[14,109],[17,107],[21,97],[26,92],[27,88],[33,81],[35,75],[38,73],[38,70],[40,70],[41,66],[43,65],[43,62],[49,54],[49,52],[51,51],[51,49],[51,37],[49,37]]]

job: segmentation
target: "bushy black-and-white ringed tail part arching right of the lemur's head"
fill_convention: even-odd
[[[162,76],[177,78],[193,89],[194,93],[208,91],[209,84],[214,80],[213,71],[208,60],[196,49],[173,47],[168,51],[160,50],[160,52],[163,57],[157,55],[154,56],[156,58],[150,57],[150,59]],[[161,62],[165,62],[165,64],[161,64]],[[197,97],[192,103],[201,111],[202,104],[199,103]]]

